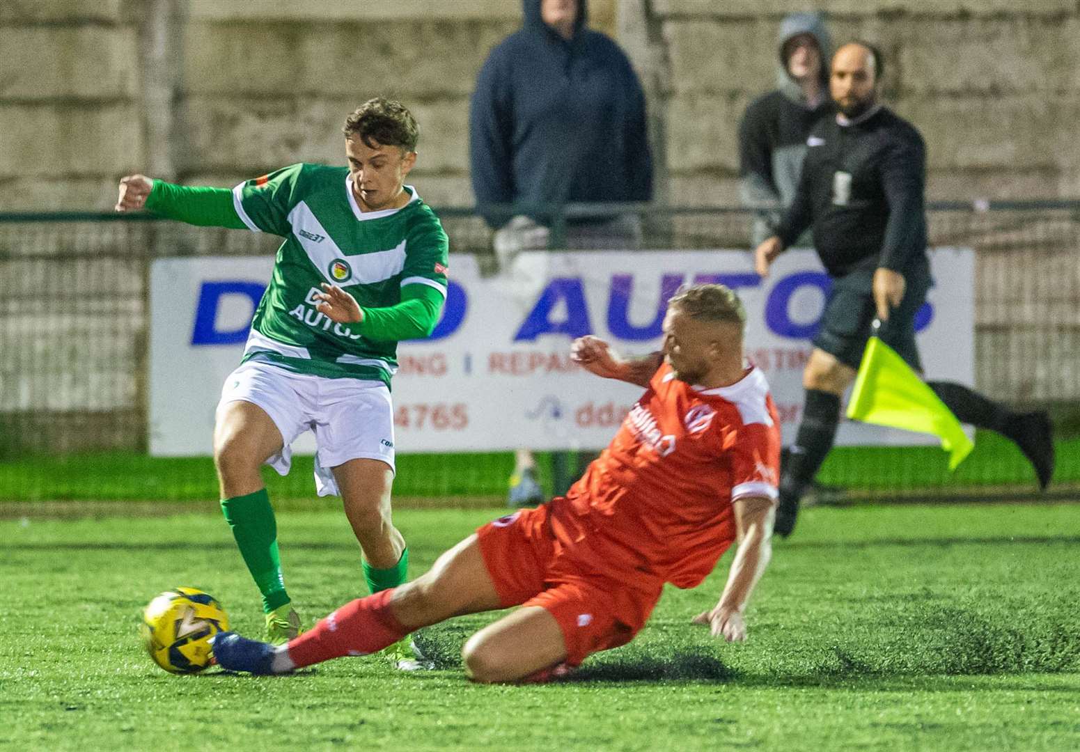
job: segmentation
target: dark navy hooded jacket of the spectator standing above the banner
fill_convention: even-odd
[[[510,218],[485,210],[490,204],[648,201],[645,94],[626,55],[585,28],[585,0],[569,41],[543,23],[540,0],[524,4],[523,28],[488,55],[469,110],[473,193],[484,218],[491,227]]]

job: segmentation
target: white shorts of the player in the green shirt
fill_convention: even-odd
[[[324,378],[270,363],[242,363],[225,380],[218,408],[251,402],[274,421],[284,445],[267,460],[279,475],[293,464],[293,442],[315,434],[315,491],[340,496],[330,468],[350,459],[378,459],[394,470],[394,409],[382,381]]]

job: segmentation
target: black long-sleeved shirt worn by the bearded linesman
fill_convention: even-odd
[[[927,151],[914,125],[886,107],[840,125],[824,118],[807,139],[795,201],[777,234],[787,246],[813,227],[833,277],[927,260]]]

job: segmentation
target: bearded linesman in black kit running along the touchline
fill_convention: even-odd
[[[926,146],[907,121],[879,102],[881,53],[845,44],[833,56],[835,118],[807,140],[799,187],[777,233],[755,251],[761,277],[808,228],[833,290],[802,374],[806,403],[795,444],[781,469],[774,531],[795,527],[799,499],[836,440],[840,398],[859,370],[874,319],[878,336],[918,372],[915,314],[930,288],[927,257]],[[959,384],[928,381],[961,422],[1014,441],[1045,488],[1054,470],[1050,417],[1016,413]]]

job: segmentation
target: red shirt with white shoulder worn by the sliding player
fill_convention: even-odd
[[[607,570],[692,588],[735,539],[732,501],[775,499],[779,470],[780,420],[760,371],[704,389],[665,363],[566,499],[552,502],[553,531]]]

